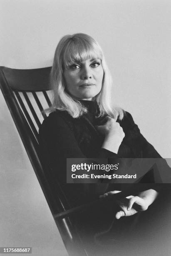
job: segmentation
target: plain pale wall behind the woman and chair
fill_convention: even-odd
[[[77,32],[97,39],[114,80],[114,102],[170,158],[171,1],[0,0],[0,65],[51,66],[59,39]],[[0,167],[0,246],[32,246],[41,255],[58,248],[66,255],[1,93]]]

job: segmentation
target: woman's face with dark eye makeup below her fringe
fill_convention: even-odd
[[[87,59],[64,70],[67,91],[73,98],[92,100],[102,89],[104,71],[100,59]]]

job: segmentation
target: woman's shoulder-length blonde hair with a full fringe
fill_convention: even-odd
[[[104,59],[104,54],[98,42],[84,33],[63,36],[56,48],[53,66],[50,74],[50,85],[53,91],[53,103],[48,111],[66,110],[73,118],[87,113],[87,109],[79,100],[72,98],[66,90],[63,72],[70,64],[82,62],[90,58],[101,59],[104,77],[101,92],[95,97],[99,106],[99,116],[109,115],[115,120],[122,119],[124,111],[112,107],[111,89],[112,77]]]

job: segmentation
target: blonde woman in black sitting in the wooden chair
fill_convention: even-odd
[[[56,180],[61,182],[72,206],[103,193],[114,194],[124,186],[66,184],[67,158],[161,158],[132,116],[112,106],[112,78],[102,49],[92,37],[77,33],[59,41],[50,83],[54,99],[40,128],[40,144],[52,169],[51,184],[55,187]],[[157,195],[157,189],[144,189],[124,199],[116,219],[147,210]]]

